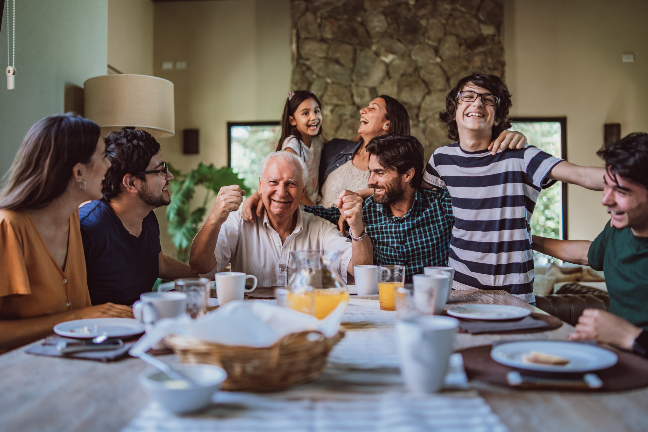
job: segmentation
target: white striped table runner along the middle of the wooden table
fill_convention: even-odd
[[[150,403],[122,432],[507,431],[474,391],[404,391],[396,369],[395,319],[377,301],[352,299],[343,322],[368,325],[347,332],[318,381],[268,394],[217,392],[214,405],[193,415],[176,416]],[[461,365],[460,356],[454,360]]]

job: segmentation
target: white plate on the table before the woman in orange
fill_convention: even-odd
[[[108,337],[126,337],[144,333],[143,323],[133,318],[92,318],[77,319],[56,324],[54,333],[66,337],[95,337],[106,334]]]

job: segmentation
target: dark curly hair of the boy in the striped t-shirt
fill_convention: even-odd
[[[457,85],[454,86],[454,89],[450,90],[450,93],[446,96],[446,110],[443,113],[439,113],[439,120],[443,123],[443,127],[448,130],[448,138],[453,141],[459,141],[459,131],[457,130],[457,121],[454,119],[454,116],[457,113],[457,105],[459,104],[459,91],[469,82],[487,89],[499,99],[495,107],[495,121],[498,124],[497,126],[493,124],[491,133],[491,139],[496,139],[503,130],[511,127],[509,111],[511,110],[511,106],[513,106],[509,87],[507,87],[506,83],[499,76],[473,73],[461,78],[457,82]]]

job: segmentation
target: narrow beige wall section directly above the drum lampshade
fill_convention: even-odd
[[[122,73],[153,74],[151,0],[108,0],[108,64]]]

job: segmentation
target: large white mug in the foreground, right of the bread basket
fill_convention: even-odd
[[[399,320],[400,373],[408,390],[435,392],[443,387],[459,320],[426,315]]]

